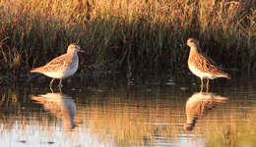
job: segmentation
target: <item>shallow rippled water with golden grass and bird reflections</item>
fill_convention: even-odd
[[[1,146],[246,146],[256,144],[255,75],[211,82],[165,76],[0,90]],[[66,84],[66,85],[65,85]]]

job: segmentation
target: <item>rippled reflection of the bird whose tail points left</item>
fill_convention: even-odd
[[[46,111],[60,118],[65,129],[75,128],[74,119],[77,110],[76,104],[70,96],[62,93],[47,93],[38,96],[32,95],[32,100],[42,104]]]

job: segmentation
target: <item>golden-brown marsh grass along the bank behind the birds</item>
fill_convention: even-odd
[[[255,8],[254,0],[2,0],[1,67],[25,72],[77,42],[85,67],[184,71],[193,36],[222,66],[255,69]]]

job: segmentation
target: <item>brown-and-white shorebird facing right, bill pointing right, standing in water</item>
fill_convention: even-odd
[[[52,86],[52,82],[55,78],[60,78],[59,86],[62,86],[62,79],[67,78],[78,70],[79,58],[78,52],[85,52],[80,50],[78,44],[72,43],[68,46],[66,54],[54,58],[45,66],[35,68],[31,73],[43,73],[49,77],[52,77],[49,86]]]

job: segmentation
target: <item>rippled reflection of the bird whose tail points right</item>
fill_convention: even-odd
[[[186,102],[187,122],[185,130],[193,130],[197,119],[200,119],[208,110],[225,103],[228,98],[213,93],[196,92]]]

